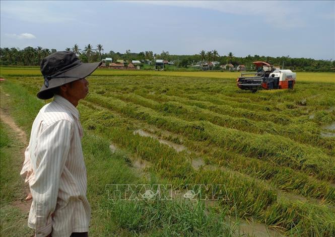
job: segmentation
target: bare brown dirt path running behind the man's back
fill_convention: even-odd
[[[27,134],[15,123],[12,117],[10,117],[3,109],[1,109],[0,111],[0,119],[4,123],[6,123],[15,133],[17,133],[17,138],[20,140],[20,142],[24,144],[24,148],[20,150],[20,156],[22,157],[21,164],[23,164],[25,147],[28,145]],[[30,192],[29,187],[26,184],[24,185],[24,192],[26,195]],[[26,213],[30,210],[31,200],[30,201],[17,200],[13,202],[13,205],[18,207],[22,212]]]

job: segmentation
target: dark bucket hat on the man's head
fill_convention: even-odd
[[[44,84],[37,93],[39,99],[50,99],[56,87],[89,76],[101,62],[83,63],[72,51],[59,51],[50,54],[41,61]]]

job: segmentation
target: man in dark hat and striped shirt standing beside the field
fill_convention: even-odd
[[[76,107],[88,94],[85,77],[100,64],[83,63],[71,51],[41,61],[44,84],[37,97],[54,99],[35,118],[21,171],[33,198],[28,226],[37,237],[88,236],[91,208]]]

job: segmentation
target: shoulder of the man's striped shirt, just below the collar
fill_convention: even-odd
[[[53,102],[43,106],[39,115],[41,116],[41,120],[43,120],[46,125],[50,125],[61,120],[68,120],[71,123],[75,122],[74,117],[68,109]]]

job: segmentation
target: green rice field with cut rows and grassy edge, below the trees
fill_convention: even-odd
[[[237,88],[238,74],[88,78],[78,109],[93,236],[335,236],[335,74],[298,72],[293,90],[256,93]],[[29,134],[49,102],[36,98],[43,78],[38,68],[1,77],[2,109]],[[107,185],[125,182],[164,184],[173,200],[142,189],[149,200],[110,201]]]

